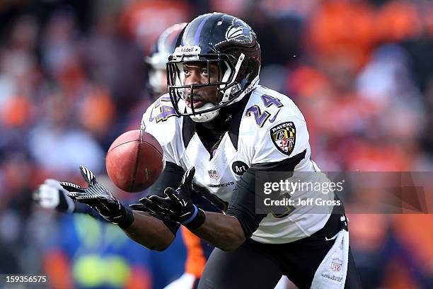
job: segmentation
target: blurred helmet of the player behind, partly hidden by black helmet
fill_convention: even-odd
[[[166,64],[173,54],[179,35],[187,23],[179,23],[168,27],[161,33],[145,58],[147,64],[147,88],[152,98],[167,93]]]

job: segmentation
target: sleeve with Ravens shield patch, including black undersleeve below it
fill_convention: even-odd
[[[260,98],[252,101],[241,123],[238,153],[250,168],[236,183],[226,214],[239,220],[247,238],[270,212],[255,210],[256,202],[261,203],[260,194],[255,192],[260,172],[294,171],[308,162],[311,153],[306,121],[294,103],[284,97],[265,95],[260,97],[263,102]],[[275,106],[270,105],[272,101]]]

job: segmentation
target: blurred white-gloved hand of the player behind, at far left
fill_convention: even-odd
[[[54,179],[46,179],[33,193],[33,200],[42,208],[59,212],[74,212],[75,209],[74,200],[67,197],[67,191]]]

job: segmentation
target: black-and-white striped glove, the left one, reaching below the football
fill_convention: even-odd
[[[68,191],[67,195],[79,203],[86,204],[99,212],[101,216],[119,227],[127,228],[134,222],[134,215],[129,208],[125,208],[106,188],[96,181],[95,175],[86,168],[80,166],[81,176],[88,184],[87,188],[81,188],[75,183],[62,182],[60,185]]]

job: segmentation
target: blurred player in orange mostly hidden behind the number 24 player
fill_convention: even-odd
[[[149,57],[145,58],[147,64],[147,88],[152,99],[167,93],[166,62],[174,52],[178,36],[187,23],[179,23],[170,26],[161,33],[160,37],[151,49]],[[94,210],[89,210],[87,205],[74,202],[67,198],[66,191],[54,179],[45,180],[33,194],[35,201],[42,208],[55,209],[59,212],[78,212],[100,217]],[[203,210],[219,211],[212,203],[195,199],[195,203]],[[103,219],[105,220],[105,219]],[[214,246],[192,234],[188,229],[181,228],[183,243],[185,244],[187,259],[185,260],[185,273],[180,278],[168,284],[165,289],[194,288],[204,270],[204,264],[212,253]],[[284,280],[281,281],[284,284]]]

